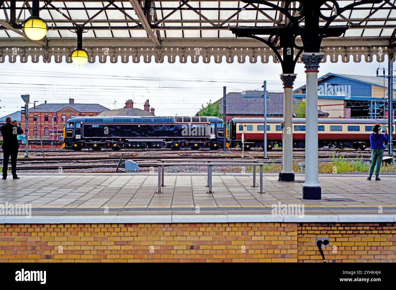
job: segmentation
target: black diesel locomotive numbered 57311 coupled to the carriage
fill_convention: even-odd
[[[218,117],[78,116],[63,130],[64,149],[222,149]]]

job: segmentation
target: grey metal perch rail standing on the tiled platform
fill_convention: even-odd
[[[172,160],[174,161],[174,160]],[[202,160],[199,160],[202,161]],[[222,160],[223,161],[223,160]],[[234,161],[234,160],[230,160]],[[210,162],[205,162],[205,163],[197,163],[197,162],[191,162],[191,163],[186,163],[186,160],[183,160],[183,163],[174,163],[174,162],[161,162],[158,163],[158,191],[156,193],[162,193],[161,187],[164,186],[164,168],[165,166],[208,166],[208,185],[209,191],[207,193],[213,193],[212,191],[212,166],[253,166],[253,185],[252,187],[257,187],[256,185],[256,166],[260,167],[260,191],[258,193],[265,193],[263,191],[263,163],[257,163],[255,160],[249,160],[249,162],[213,162],[213,160],[210,160]]]

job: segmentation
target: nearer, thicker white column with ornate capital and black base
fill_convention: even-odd
[[[303,199],[321,199],[318,177],[318,68],[324,53],[303,53],[307,73],[305,120],[305,183]]]

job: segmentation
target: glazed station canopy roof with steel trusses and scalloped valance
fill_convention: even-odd
[[[31,1],[0,0],[0,62],[67,61],[76,48],[75,29],[84,27],[83,48],[89,62],[180,61],[229,63],[269,59],[278,62],[264,43],[251,38],[237,38],[229,26],[275,27],[287,22],[283,13],[264,4],[242,1],[40,1],[40,17],[48,25],[46,37],[29,40],[23,33],[23,22],[31,15]],[[284,1],[269,1],[282,7]],[[340,7],[355,1],[338,0]],[[324,38],[322,52],[327,61],[379,61],[395,45],[395,0],[379,4],[362,4],[339,14],[334,25],[348,25],[340,37]],[[292,2],[292,9],[298,2]],[[324,15],[333,13],[331,1],[323,8]],[[291,10],[296,11],[296,10]],[[13,21],[11,21],[13,20]],[[326,21],[320,20],[320,25]],[[301,21],[304,25],[304,19]],[[268,37],[268,36],[267,36]],[[297,38],[297,42],[298,42]]]

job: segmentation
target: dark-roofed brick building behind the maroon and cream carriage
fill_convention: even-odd
[[[264,115],[264,98],[262,91],[246,91],[244,93],[227,93],[227,122],[232,118],[259,118]],[[299,99],[293,97],[294,105]],[[223,114],[223,98],[215,101],[220,103],[220,114]],[[200,114],[201,111],[196,113]],[[327,118],[329,114],[318,110],[318,118]],[[283,93],[267,92],[267,117],[283,118]]]

